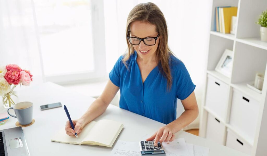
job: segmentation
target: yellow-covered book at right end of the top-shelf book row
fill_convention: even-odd
[[[232,16],[237,16],[237,7],[222,8],[222,33],[230,33]]]

